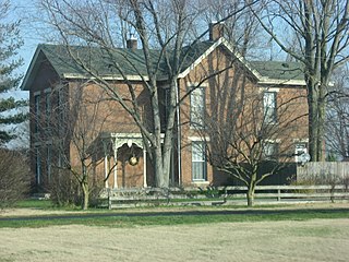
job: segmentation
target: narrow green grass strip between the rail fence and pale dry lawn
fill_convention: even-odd
[[[306,221],[314,218],[349,218],[349,209],[312,209],[312,210],[227,210],[227,209],[173,209],[164,215],[152,212],[161,210],[146,209],[127,211],[127,213],[111,212],[85,212],[83,214],[69,214],[65,218],[55,216],[36,217],[34,219],[0,221],[0,227],[46,227],[59,225],[86,225],[107,227],[135,227],[135,226],[168,226],[193,225],[209,223],[240,223],[264,221]],[[213,214],[215,212],[215,214]],[[189,214],[188,214],[189,213]],[[145,214],[142,216],[142,214]],[[95,215],[94,217],[88,217]],[[106,216],[112,215],[112,216]]]

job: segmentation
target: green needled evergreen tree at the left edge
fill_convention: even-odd
[[[26,106],[26,100],[16,100],[14,97],[4,98],[4,93],[15,90],[22,79],[14,71],[22,66],[23,60],[17,58],[17,50],[23,45],[20,36],[20,22],[9,22],[10,1],[0,2],[0,146],[16,138],[9,124],[21,123],[26,120],[27,114],[20,112],[19,108]],[[13,109],[13,110],[12,110]],[[11,110],[11,112],[9,112]],[[13,112],[14,111],[14,112]]]

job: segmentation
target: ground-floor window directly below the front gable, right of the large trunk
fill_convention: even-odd
[[[206,146],[202,141],[192,142],[192,178],[193,181],[206,181]]]

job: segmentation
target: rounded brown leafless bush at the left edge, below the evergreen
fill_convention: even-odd
[[[0,150],[0,209],[12,206],[29,191],[27,157],[15,151]]]

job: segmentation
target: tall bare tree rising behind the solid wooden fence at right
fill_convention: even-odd
[[[304,67],[311,160],[324,160],[326,94],[334,69],[349,58],[349,1],[273,0],[264,11],[264,16],[256,15],[263,28]]]

